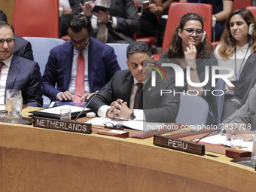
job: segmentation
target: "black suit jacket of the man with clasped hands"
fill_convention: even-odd
[[[88,108],[92,108],[97,112],[102,105],[110,105],[117,99],[123,99],[130,106],[130,95],[133,86],[133,75],[130,70],[122,70],[116,72],[111,81],[105,85],[108,90],[100,91],[95,98],[90,102]],[[102,89],[105,89],[103,87]],[[151,87],[151,78],[143,89],[143,111],[147,121],[151,122],[172,122],[175,119],[179,109],[179,94],[172,93],[163,94],[160,96],[160,90],[175,90],[175,78],[168,76],[166,79],[161,79],[157,75],[156,87]]]

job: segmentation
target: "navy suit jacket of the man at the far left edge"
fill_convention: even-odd
[[[21,90],[23,104],[41,107],[43,105],[41,73],[37,62],[14,54],[6,81],[6,90]]]

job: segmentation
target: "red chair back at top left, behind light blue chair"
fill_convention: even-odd
[[[59,0],[16,0],[13,25],[20,37],[59,38]]]

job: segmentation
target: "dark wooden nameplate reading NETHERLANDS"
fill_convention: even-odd
[[[76,133],[92,133],[91,123],[80,123],[69,120],[56,120],[42,117],[35,117],[34,126],[52,130],[70,131]]]

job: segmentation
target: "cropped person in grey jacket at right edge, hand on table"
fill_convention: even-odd
[[[250,90],[248,99],[239,110],[223,121],[223,124],[229,129],[225,130],[226,134],[242,135],[243,140],[252,140],[253,130],[256,130],[256,87]],[[221,133],[224,130],[221,130]]]

